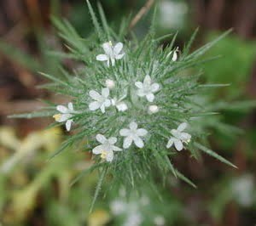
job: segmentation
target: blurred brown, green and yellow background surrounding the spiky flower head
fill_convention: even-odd
[[[96,7],[94,0],[90,1]],[[146,0],[100,1],[111,25],[136,14]],[[157,36],[178,31],[176,45],[183,48],[196,27],[200,28],[194,48],[234,31],[207,55],[221,55],[203,66],[202,80],[230,83],[212,92],[212,99],[241,101],[256,97],[256,1],[255,0],[159,0]],[[138,37],[148,31],[152,11],[134,31]],[[84,0],[0,1],[0,225],[1,226],[100,226],[100,225],[256,225],[256,111],[241,105],[223,110],[222,120],[232,125],[236,136],[211,131],[212,149],[234,162],[238,169],[203,155],[195,161],[185,152],[174,159],[175,166],[197,184],[194,189],[168,178],[161,199],[148,188],[143,196],[124,191],[103,195],[89,213],[96,188],[96,173],[73,178],[90,167],[90,155],[67,150],[47,161],[65,138],[61,127],[45,129],[51,118],[9,119],[14,113],[38,110],[38,99],[55,103],[63,98],[38,86],[44,79],[38,71],[60,73],[57,65],[78,67],[49,50],[64,48],[50,22],[50,16],[65,17],[82,37],[92,31]],[[172,37],[171,37],[172,38]],[[166,45],[171,39],[166,38]],[[241,130],[234,127],[239,127]]]

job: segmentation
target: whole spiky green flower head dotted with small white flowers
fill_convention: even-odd
[[[108,189],[124,186],[127,194],[141,184],[154,187],[155,172],[162,178],[172,172],[195,186],[172,165],[172,155],[182,155],[181,150],[196,158],[202,151],[235,167],[207,148],[206,118],[216,113],[205,96],[209,88],[221,85],[201,84],[201,72],[193,69],[211,60],[201,56],[229,31],[189,54],[195,31],[177,57],[176,36],[162,48],[161,38],[154,37],[154,22],[138,41],[129,36],[127,22],[113,31],[99,5],[100,25],[87,3],[96,29],[90,37],[83,39],[67,21],[54,20],[70,52],[55,55],[79,60],[84,68],[62,70],[61,76],[42,73],[51,81],[44,88],[67,95],[72,103],[15,117],[53,116],[73,130],[55,155],[86,143],[84,151],[92,151],[94,165],[79,178],[94,170],[100,175],[92,206],[107,175],[112,179]],[[220,123],[216,120],[212,127]]]

